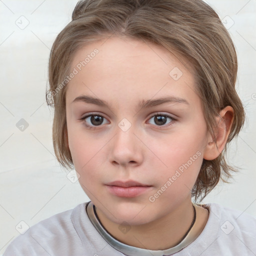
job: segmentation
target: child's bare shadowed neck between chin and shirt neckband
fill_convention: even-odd
[[[205,212],[206,211],[206,212]],[[197,229],[203,229],[207,221],[207,210],[197,206]],[[110,221],[96,208],[96,214],[104,228],[122,243],[150,250],[164,250],[180,242],[193,220],[191,200],[185,201],[173,211],[150,223],[132,225],[128,232],[120,232],[120,224]]]

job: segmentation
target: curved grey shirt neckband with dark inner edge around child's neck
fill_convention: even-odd
[[[125,243],[122,243],[118,240],[116,240],[113,236],[111,236],[106,229],[103,227],[101,224],[95,210],[94,204],[90,201],[87,204],[86,207],[86,212],[88,215],[89,220],[95,227],[95,229],[98,231],[98,233],[103,237],[103,239],[113,248],[116,250],[122,252],[125,255],[128,256],[164,256],[164,255],[170,255],[173,254],[177,251],[180,251],[184,247],[186,247],[188,244],[190,244],[192,241],[194,241],[198,235],[200,234],[201,230],[197,231],[195,230],[195,227],[197,226],[197,221],[196,221],[196,210],[195,206],[196,204],[192,203],[193,206],[193,220],[191,225],[189,226],[188,230],[184,234],[184,236],[181,238],[179,243],[175,245],[174,247],[164,249],[164,250],[148,250],[148,249],[143,249],[139,247],[134,247],[127,245]]]

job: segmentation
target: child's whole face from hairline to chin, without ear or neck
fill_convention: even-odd
[[[73,56],[68,146],[81,187],[115,223],[149,223],[191,203],[208,133],[186,62],[128,37]]]

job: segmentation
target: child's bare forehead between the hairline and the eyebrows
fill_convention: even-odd
[[[96,53],[95,53],[96,52]],[[164,47],[130,37],[111,36],[83,46],[73,56],[66,102],[89,94],[120,102],[173,95],[195,94],[194,75],[188,61]]]

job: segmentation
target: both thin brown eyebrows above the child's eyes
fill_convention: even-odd
[[[111,106],[105,100],[91,97],[88,95],[80,95],[80,96],[76,97],[71,103],[73,103],[73,102],[91,103],[91,104],[95,104],[98,106],[103,106],[103,107],[107,107],[107,108],[111,109]],[[167,97],[160,97],[157,99],[148,99],[148,100],[143,99],[143,100],[139,101],[139,103],[137,104],[137,107],[138,108],[147,108],[147,107],[152,107],[152,106],[157,106],[157,105],[161,105],[164,103],[172,103],[172,102],[183,103],[183,104],[189,105],[187,100],[185,100],[184,98],[167,96]]]

